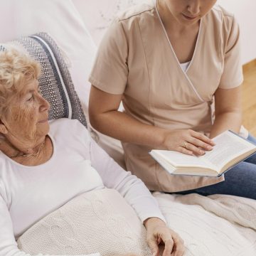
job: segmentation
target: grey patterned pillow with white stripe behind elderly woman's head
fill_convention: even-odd
[[[38,33],[4,43],[0,50],[8,49],[9,46],[22,48],[41,64],[38,82],[43,97],[50,102],[49,119],[78,119],[87,127],[68,66],[53,38],[48,33]]]

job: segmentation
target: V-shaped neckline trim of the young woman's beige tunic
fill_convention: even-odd
[[[203,17],[201,18],[201,21],[200,21],[198,36],[197,36],[197,38],[196,38],[196,46],[195,46],[195,49],[194,49],[194,51],[193,51],[192,59],[190,60],[190,64],[188,65],[188,68],[186,69],[186,71],[184,71],[183,68],[181,67],[181,63],[178,61],[178,57],[177,57],[177,55],[176,55],[176,53],[175,53],[175,51],[174,51],[173,46],[171,45],[171,41],[170,41],[169,36],[168,36],[168,34],[167,34],[167,32],[166,32],[166,28],[164,27],[164,23],[163,23],[163,21],[161,20],[161,16],[160,16],[159,11],[158,11],[157,6],[156,6],[156,1],[157,1],[157,0],[154,0],[154,7],[155,7],[155,9],[156,9],[156,14],[157,14],[157,16],[158,16],[158,18],[159,18],[159,21],[160,21],[161,26],[162,26],[162,28],[163,28],[163,31],[164,31],[164,33],[165,33],[166,40],[167,40],[168,43],[169,43],[169,46],[170,46],[170,48],[171,48],[171,52],[173,53],[174,58],[176,59],[176,62],[177,62],[177,64],[178,64],[178,66],[181,68],[181,70],[182,70],[182,72],[184,73],[184,75],[186,75],[186,73],[188,72],[189,68],[191,67],[191,65],[192,65],[192,63],[193,63],[193,59],[196,58],[195,56],[196,56],[196,53],[197,53],[197,51],[198,51],[198,42],[199,42],[200,39],[201,39],[201,31],[202,31],[202,26],[203,26],[203,25],[202,25],[202,24],[203,24]]]

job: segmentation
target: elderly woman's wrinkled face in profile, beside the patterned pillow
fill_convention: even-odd
[[[41,143],[49,131],[49,103],[38,91],[38,81],[23,85],[19,92],[12,95],[9,111],[1,118],[6,127],[6,139],[18,148]]]

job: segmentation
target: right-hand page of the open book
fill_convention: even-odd
[[[206,151],[203,159],[216,166],[218,171],[230,160],[254,147],[250,142],[228,131],[215,137],[213,142],[216,145],[212,151]]]

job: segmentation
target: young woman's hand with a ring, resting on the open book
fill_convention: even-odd
[[[211,139],[191,129],[164,132],[164,149],[183,154],[202,156],[205,151],[213,149],[214,145]]]

